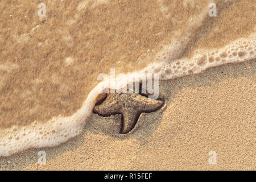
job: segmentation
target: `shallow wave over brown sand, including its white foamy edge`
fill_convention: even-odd
[[[33,3],[0,2],[0,156],[80,134],[98,94],[125,77],[168,80],[256,57],[253,0],[216,1],[216,16],[203,0],[52,1],[45,17]],[[111,86],[97,80],[110,68],[123,73]]]

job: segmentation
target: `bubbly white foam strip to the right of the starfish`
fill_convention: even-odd
[[[251,41],[253,40],[253,41]],[[246,60],[253,60],[256,58],[255,51],[251,51],[255,47],[256,34],[251,34],[248,38],[241,38],[228,44],[225,47],[218,49],[199,49],[191,57],[191,59],[177,59],[173,60],[173,57],[167,57],[167,60],[161,64],[152,63],[148,66],[147,72],[153,70],[160,71],[161,75],[164,75],[165,80],[191,75],[192,73],[201,73],[205,69],[210,67],[216,67],[218,65],[226,63],[238,63]],[[170,51],[170,45],[164,49],[166,52],[162,54],[168,55]],[[182,65],[182,66],[181,66]]]

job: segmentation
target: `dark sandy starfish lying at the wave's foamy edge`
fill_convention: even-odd
[[[101,96],[93,112],[103,117],[122,114],[120,133],[127,134],[133,130],[141,113],[156,111],[163,104],[163,101],[152,100],[141,94],[110,93]]]

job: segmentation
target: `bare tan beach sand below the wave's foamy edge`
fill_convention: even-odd
[[[53,148],[0,159],[22,170],[255,170],[256,61],[160,81],[162,109],[142,114],[141,127],[117,133],[119,115],[93,114],[81,135]],[[39,165],[39,151],[46,164]],[[209,164],[216,152],[216,164]]]

